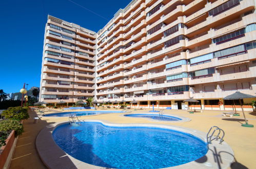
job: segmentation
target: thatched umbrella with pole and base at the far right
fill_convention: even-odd
[[[253,128],[253,125],[248,124],[248,120],[246,119],[245,114],[244,114],[244,109],[243,109],[241,99],[254,98],[254,97],[256,97],[256,96],[249,95],[249,94],[244,94],[244,93],[241,93],[241,92],[235,92],[235,93],[233,93],[231,95],[228,95],[228,96],[223,98],[224,100],[237,100],[237,99],[239,100],[241,108],[242,108],[242,112],[243,112],[243,115],[244,115],[244,120],[245,120],[245,124],[242,124],[242,126],[245,126],[245,127],[248,127],[248,128]]]

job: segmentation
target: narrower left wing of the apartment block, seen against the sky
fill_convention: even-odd
[[[96,33],[48,16],[40,101],[73,103],[94,96]]]

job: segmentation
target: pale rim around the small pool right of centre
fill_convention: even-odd
[[[183,116],[177,116],[177,115],[172,115],[172,114],[163,114],[163,116],[167,116],[167,117],[174,117],[174,118],[178,118],[180,120],[156,120],[156,119],[152,119],[152,118],[148,118],[148,117],[131,117],[129,115],[160,115],[157,113],[128,113],[128,114],[124,114],[124,115],[120,115],[123,117],[129,117],[129,118],[142,118],[142,119],[146,119],[149,121],[155,121],[155,122],[187,122],[187,121],[191,121],[191,119],[187,118],[187,117],[183,117]],[[161,116],[161,115],[160,115]]]

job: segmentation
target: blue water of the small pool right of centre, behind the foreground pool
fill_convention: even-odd
[[[159,115],[159,114],[126,114],[124,116],[127,117],[144,117],[144,118],[151,118],[154,120],[162,120],[162,121],[178,121],[182,120],[178,117],[168,116],[168,115]]]

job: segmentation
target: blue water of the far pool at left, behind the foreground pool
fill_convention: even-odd
[[[69,114],[76,114],[77,116],[89,116],[94,114],[104,114],[104,113],[122,113],[121,111],[87,111],[87,112],[63,112],[63,113],[51,113],[45,116],[52,117],[68,117]]]

